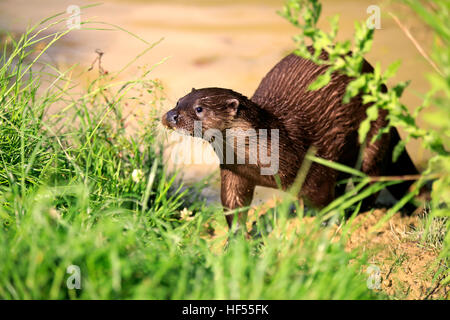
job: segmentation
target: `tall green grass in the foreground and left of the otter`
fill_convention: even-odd
[[[208,235],[210,224],[225,229],[222,209],[187,202],[196,191],[165,173],[156,113],[125,132],[130,95],[158,97],[161,86],[148,71],[128,81],[100,74],[87,88],[72,69],[36,71],[33,46],[67,32],[42,36],[54,19],[0,59],[1,299],[380,297],[345,236],[330,237],[320,220],[286,236],[289,202],[270,212],[272,232],[258,222],[260,237],[235,236],[225,250],[227,235]],[[68,286],[72,265],[80,289]]]

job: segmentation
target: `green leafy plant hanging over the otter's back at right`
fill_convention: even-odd
[[[445,0],[435,1],[433,6],[425,6],[417,0],[405,1],[413,8],[425,23],[434,31],[433,61],[437,65],[436,72],[429,76],[431,89],[424,96],[423,102],[413,112],[402,104],[401,95],[408,86],[408,82],[399,82],[389,88],[387,92],[383,86],[391,79],[398,68],[400,62],[394,62],[383,72],[379,63],[375,65],[373,73],[361,74],[364,55],[367,54],[372,46],[374,30],[370,29],[365,22],[355,23],[355,33],[353,41],[337,41],[338,16],[330,19],[331,31],[325,32],[317,28],[317,22],[321,13],[321,4],[317,0],[288,0],[283,10],[279,12],[293,25],[298,27],[300,34],[294,37],[296,44],[295,53],[307,59],[311,59],[319,65],[328,65],[327,71],[318,76],[310,85],[311,90],[319,89],[325,86],[331,79],[331,74],[339,72],[354,78],[347,86],[343,102],[348,102],[352,97],[360,94],[364,103],[370,103],[367,109],[367,118],[361,123],[359,128],[359,141],[363,143],[367,138],[371,121],[378,117],[380,110],[387,111],[388,126],[382,128],[377,139],[381,134],[388,132],[392,126],[402,128],[407,136],[400,142],[393,154],[395,161],[401,153],[405,144],[411,139],[419,139],[422,146],[432,152],[431,158],[421,177],[416,182],[415,192],[406,195],[393,208],[390,209],[385,222],[398,211],[414,194],[417,194],[419,187],[425,180],[433,179],[433,190],[431,200],[431,210],[428,216],[428,226],[436,217],[449,217],[449,199],[450,199],[450,153],[448,151],[450,142],[450,17],[449,3]],[[308,44],[314,48],[314,52],[307,49]],[[320,59],[322,51],[328,54],[327,60]],[[350,54],[351,52],[351,54]],[[432,111],[430,107],[435,107]],[[427,113],[424,113],[427,110]],[[424,114],[423,114],[424,113]],[[423,117],[431,125],[430,128],[421,128],[416,119],[423,114]],[[355,175],[352,168],[342,168],[342,166],[326,162],[323,159],[310,158],[313,161],[329,165],[336,170],[347,170],[348,173]],[[360,191],[366,187],[370,181],[362,173],[356,173],[356,177],[362,178],[361,182],[355,187]],[[383,185],[372,185],[370,188],[380,190]],[[329,209],[342,208],[345,203],[357,203],[365,196],[370,195],[369,188],[358,196],[346,194],[340,199],[334,201],[329,208],[325,208],[324,213]],[[448,261],[450,253],[450,237],[448,235],[449,221],[446,222],[445,245],[441,251],[441,258]],[[429,230],[428,227],[425,230]],[[423,239],[426,238],[426,232]],[[450,281],[448,270],[446,271],[446,280]]]

